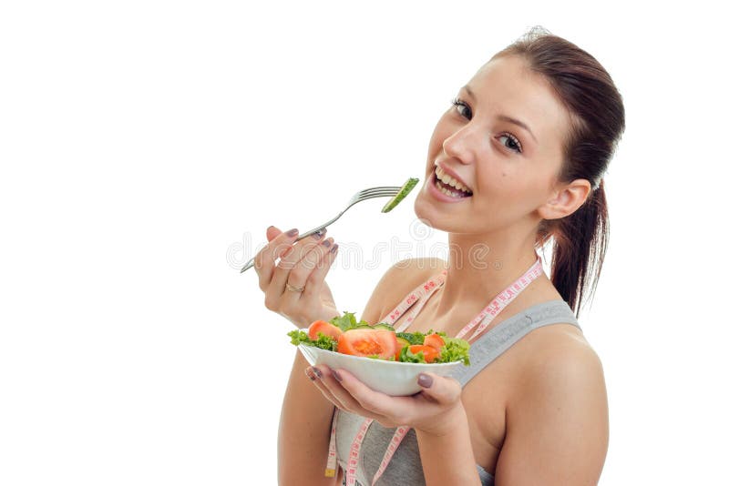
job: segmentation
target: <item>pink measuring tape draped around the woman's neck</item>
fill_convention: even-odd
[[[403,325],[399,326],[396,331],[403,332],[405,329],[407,329],[410,323],[416,318],[417,313],[425,305],[426,299],[423,299],[423,297],[429,295],[436,289],[439,289],[440,286],[445,282],[445,273],[446,272],[444,271],[443,275],[440,275],[435,279],[428,280],[420,288],[416,289],[416,291],[407,296],[407,298],[404,299],[403,302],[401,302],[400,305],[387,316],[385,322],[388,324],[392,324],[393,322],[395,322],[395,320],[402,316],[406,312],[406,310],[409,309],[417,300],[421,300],[420,302],[418,302],[418,306],[416,307],[416,309],[411,312],[407,319],[405,319]],[[534,265],[532,265],[529,270],[524,273],[524,275],[517,278],[511,285],[508,286],[507,289],[501,291],[496,299],[493,299],[491,303],[486,306],[485,309],[481,310],[478,313],[476,318],[471,320],[466,326],[464,326],[463,329],[458,332],[456,337],[463,338],[471,329],[474,329],[476,327],[476,330],[474,330],[470,338],[467,339],[470,343],[474,342],[488,328],[488,325],[498,316],[498,313],[505,309],[512,300],[516,299],[517,296],[524,289],[526,289],[531,282],[539,278],[542,273],[543,270],[541,267],[541,259],[537,257],[537,261],[534,262]],[[325,473],[327,477],[334,477],[334,468],[336,466],[336,448],[334,438],[336,422],[339,415],[338,412],[338,409],[334,409],[334,419],[332,420],[332,433],[330,435],[329,441],[329,458],[326,464]],[[375,420],[364,420],[362,426],[359,428],[359,430],[357,430],[357,434],[354,436],[352,447],[349,450],[349,460],[347,461],[347,467],[345,470],[347,486],[354,486],[354,474],[357,471],[357,466],[359,464],[360,451],[362,449],[364,435],[367,433],[367,429],[369,429],[373,421]],[[395,455],[395,451],[397,451],[400,443],[403,441],[403,439],[405,439],[408,430],[410,430],[409,427],[398,427],[395,430],[395,434],[393,435],[392,440],[390,440],[390,443],[387,445],[385,455],[380,462],[380,467],[377,469],[377,471],[375,472],[375,477],[372,479],[372,486],[375,486],[375,482],[377,482],[377,480],[380,479],[380,476],[382,476],[382,474],[385,472],[387,465],[390,463],[390,461],[392,461],[392,458]]]

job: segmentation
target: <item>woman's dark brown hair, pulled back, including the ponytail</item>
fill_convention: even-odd
[[[544,76],[570,112],[560,181],[590,181],[590,195],[566,218],[543,220],[539,245],[553,238],[551,280],[579,315],[597,287],[608,245],[608,206],[602,176],[625,130],[622,97],[604,67],[569,41],[536,26],[498,52],[522,56]]]

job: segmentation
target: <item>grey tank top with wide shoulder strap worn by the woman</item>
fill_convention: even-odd
[[[572,324],[580,329],[570,306],[564,300],[549,300],[530,307],[515,316],[504,319],[493,329],[488,330],[471,345],[469,351],[471,365],[457,368],[452,375],[462,387],[465,387],[479,371],[497,359],[504,351],[513,346],[529,331],[548,326],[549,324]],[[364,422],[364,417],[339,410],[336,427],[336,454],[339,466],[346,470],[349,448],[354,441],[357,430]],[[387,429],[376,421],[367,430],[360,450],[360,461],[354,475],[358,486],[369,486],[375,472],[385,455],[385,450],[396,429]],[[476,465],[481,484],[494,485],[494,476]],[[400,447],[395,451],[392,461],[377,481],[377,486],[402,485],[403,478],[408,478],[408,485],[426,484],[420,452],[417,449],[415,430],[409,430]],[[344,482],[343,482],[344,484]]]

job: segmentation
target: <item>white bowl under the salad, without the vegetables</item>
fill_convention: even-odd
[[[463,366],[461,361],[422,364],[364,358],[305,344],[300,344],[299,350],[312,366],[325,364],[332,369],[347,370],[371,389],[392,396],[412,395],[420,391],[417,375],[424,371],[449,376],[459,366]]]

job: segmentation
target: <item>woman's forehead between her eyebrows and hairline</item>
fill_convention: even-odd
[[[530,70],[523,58],[490,60],[468,81],[468,86],[477,106],[483,106],[489,115],[517,118],[531,128],[540,147],[561,147],[570,123],[567,108],[549,81]]]

